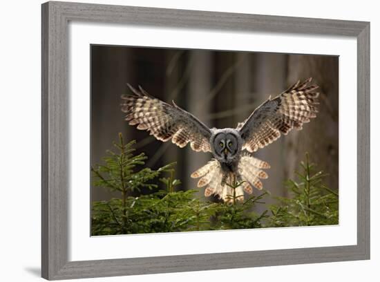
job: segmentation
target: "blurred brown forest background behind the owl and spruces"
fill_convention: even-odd
[[[287,196],[283,181],[294,178],[306,151],[329,174],[326,185],[338,189],[339,57],[327,55],[91,45],[91,165],[102,163],[119,132],[126,142],[137,141],[136,153],[148,156],[146,167],[177,162],[175,178],[183,190],[196,189],[198,180],[190,174],[212,158],[211,153],[196,153],[189,145],[180,149],[129,126],[120,111],[120,96],[129,93],[126,83],[141,85],[165,102],[174,100],[209,127],[223,128],[236,127],[269,95],[308,77],[320,86],[317,118],[254,156],[271,164],[263,185],[272,196]],[[93,201],[120,197],[117,193],[91,187]]]

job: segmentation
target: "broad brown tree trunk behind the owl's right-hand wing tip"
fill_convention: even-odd
[[[313,83],[320,86],[319,113],[303,130],[292,131],[285,138],[287,161],[285,174],[295,178],[294,171],[299,170],[299,162],[310,153],[310,160],[317,169],[329,176],[325,179],[331,189],[338,189],[339,181],[339,64],[335,56],[289,56],[288,84],[298,79],[313,77]]]

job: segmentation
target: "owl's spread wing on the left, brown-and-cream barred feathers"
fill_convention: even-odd
[[[211,151],[211,130],[195,116],[174,102],[170,105],[152,97],[140,86],[139,90],[129,84],[128,86],[133,95],[122,95],[121,106],[129,124],[137,125],[137,129],[149,131],[163,142],[171,139],[181,148],[190,142],[194,151]]]

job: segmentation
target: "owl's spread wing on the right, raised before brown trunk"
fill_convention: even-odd
[[[238,124],[240,135],[245,141],[243,149],[257,151],[287,134],[290,129],[302,129],[305,122],[315,118],[319,104],[317,85],[309,85],[312,78],[298,81],[287,91],[265,101],[254,110],[245,122]]]

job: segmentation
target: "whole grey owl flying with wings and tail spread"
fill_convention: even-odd
[[[263,189],[261,179],[268,178],[264,169],[269,169],[269,164],[252,153],[280,138],[281,133],[301,130],[304,123],[316,117],[319,86],[310,85],[311,81],[311,77],[303,83],[298,81],[280,95],[269,97],[236,129],[210,129],[174,101],[167,104],[141,86],[135,89],[128,84],[132,93],[122,95],[121,106],[130,125],[148,131],[156,139],[171,140],[180,148],[190,143],[193,151],[211,152],[213,159],[191,178],[200,178],[198,187],[205,187],[205,196],[215,194],[230,202],[233,194],[235,199],[243,200],[244,193],[252,194],[254,187]]]

